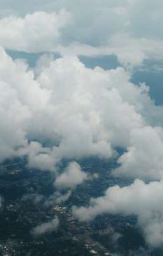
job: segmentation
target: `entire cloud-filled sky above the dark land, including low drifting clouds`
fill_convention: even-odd
[[[163,2],[0,4],[1,163],[27,156],[28,168],[55,172],[53,196],[63,202],[89,179],[81,158],[111,159],[124,148],[113,175],[131,184],[74,205],[73,214],[136,214],[146,243],[162,245]],[[60,174],[62,159],[70,163]],[[33,232],[59,225],[43,224]]]

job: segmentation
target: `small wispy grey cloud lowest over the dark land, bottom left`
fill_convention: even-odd
[[[52,221],[48,221],[33,228],[31,234],[33,236],[42,236],[45,233],[56,231],[59,227],[59,218],[56,216]]]

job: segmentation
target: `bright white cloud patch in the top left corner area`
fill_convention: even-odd
[[[15,51],[54,51],[62,28],[69,20],[70,15],[64,10],[59,13],[34,12],[24,18],[4,17],[0,20],[0,44]]]

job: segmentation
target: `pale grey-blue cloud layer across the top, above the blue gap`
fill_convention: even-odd
[[[162,1],[29,1],[1,3],[0,43],[17,51],[115,54],[125,67],[163,54]],[[87,8],[85,8],[87,6]],[[32,13],[32,14],[27,14]],[[85,17],[85,19],[83,19]]]

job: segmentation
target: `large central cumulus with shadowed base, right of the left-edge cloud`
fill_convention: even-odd
[[[64,157],[114,156],[115,147],[130,145],[132,129],[145,125],[141,112],[152,122],[146,108],[155,106],[146,86],[131,84],[123,68],[91,70],[77,58],[65,57],[50,61],[33,83],[45,94],[45,103],[30,109],[25,132],[31,140],[52,145],[31,142],[18,150],[28,154],[34,168],[52,170]],[[29,109],[31,104],[26,105]]]

